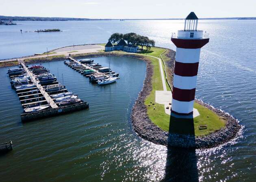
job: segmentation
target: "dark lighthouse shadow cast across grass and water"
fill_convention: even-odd
[[[186,127],[184,128],[184,126]],[[169,134],[172,133],[190,134],[195,136],[193,118],[177,119],[171,116]],[[197,158],[195,149],[172,147],[168,138],[165,178],[163,179],[163,182],[176,181],[199,181]]]

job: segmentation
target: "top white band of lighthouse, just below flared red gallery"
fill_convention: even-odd
[[[181,63],[197,63],[200,58],[200,48],[199,49],[183,49],[176,48],[175,59]]]

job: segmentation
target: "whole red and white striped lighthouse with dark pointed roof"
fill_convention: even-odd
[[[171,113],[181,116],[193,114],[200,49],[209,42],[202,30],[197,30],[198,18],[191,12],[185,19],[184,30],[173,34],[176,45]]]

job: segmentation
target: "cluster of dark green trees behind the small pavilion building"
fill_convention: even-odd
[[[114,33],[110,36],[108,40],[112,43],[119,43],[121,39],[126,40],[128,44],[141,46],[141,50],[143,50],[143,46],[147,47],[147,51],[151,48],[151,46],[155,46],[154,40],[151,40],[146,36],[141,36],[139,34],[135,34],[132,32],[128,34]]]

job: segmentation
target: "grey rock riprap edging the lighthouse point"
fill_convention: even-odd
[[[175,56],[175,54],[171,55]],[[171,61],[174,61],[174,57],[169,58]],[[143,83],[143,88],[139,93],[137,100],[135,101],[131,113],[131,122],[133,129],[141,138],[155,144],[196,149],[217,147],[236,138],[239,130],[241,129],[239,121],[232,117],[230,114],[214,108],[209,104],[205,104],[200,100],[195,100],[195,102],[208,108],[209,110],[212,110],[219,116],[226,118],[227,121],[225,127],[219,129],[218,131],[210,133],[209,135],[195,137],[192,135],[168,133],[167,131],[163,131],[163,129],[152,123],[147,114],[147,107],[145,106],[144,102],[146,97],[152,91],[151,79],[153,74],[153,66],[148,61],[146,61],[146,63],[147,70],[146,77]],[[167,66],[172,66],[172,68],[169,69],[171,69],[172,71],[174,70],[174,63],[167,63]]]

